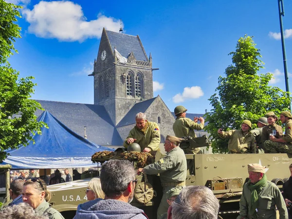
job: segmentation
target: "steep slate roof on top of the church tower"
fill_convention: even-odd
[[[114,52],[114,48],[116,48],[116,50],[126,58],[133,52],[137,60],[148,61],[142,43],[140,43],[138,37],[108,30],[106,30],[106,32],[110,40],[112,53]]]

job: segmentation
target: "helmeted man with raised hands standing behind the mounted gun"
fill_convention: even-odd
[[[190,136],[196,138],[196,134],[194,130],[201,130],[204,128],[204,118],[203,117],[194,117],[194,121],[192,121],[189,118],[186,118],[186,111],[183,106],[177,106],[174,109],[174,114],[177,117],[172,128],[174,131],[174,134],[178,138]],[[200,121],[200,124],[197,123],[198,120]],[[197,147],[195,149],[189,149],[189,148],[183,148],[183,152],[185,154],[201,154],[201,148]],[[187,169],[189,170],[190,174],[194,174],[194,161],[193,160],[187,160]]]

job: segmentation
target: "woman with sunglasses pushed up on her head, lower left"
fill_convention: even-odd
[[[49,206],[51,193],[46,183],[38,177],[31,178],[23,184],[22,200],[32,206],[36,213],[47,215],[49,219],[64,219],[54,208]]]

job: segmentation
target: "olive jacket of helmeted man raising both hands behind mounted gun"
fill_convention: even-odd
[[[189,118],[178,117],[176,118],[172,128],[173,128],[175,136],[178,138],[186,137],[186,136],[197,137],[194,130],[202,130],[204,128],[204,122],[199,124],[199,123],[195,123],[193,120]],[[201,148],[198,147],[198,148],[195,148],[194,150],[186,150],[185,152],[200,151],[200,150]]]

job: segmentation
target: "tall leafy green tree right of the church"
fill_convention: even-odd
[[[256,128],[256,120],[267,111],[279,114],[288,110],[290,99],[277,87],[268,86],[273,74],[257,74],[264,63],[253,37],[240,37],[236,52],[231,52],[232,65],[225,70],[226,77],[219,76],[219,86],[210,97],[212,110],[205,114],[208,125],[205,130],[213,138],[215,153],[227,152],[228,139],[218,137],[218,129],[240,129],[241,122],[249,119]]]

